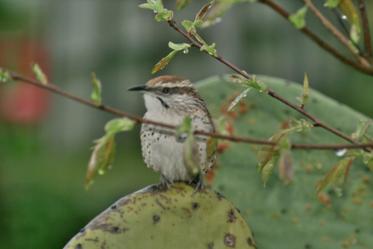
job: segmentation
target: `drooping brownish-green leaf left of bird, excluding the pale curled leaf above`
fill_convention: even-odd
[[[87,190],[93,183],[93,179],[95,178],[97,173],[100,175],[104,174],[105,171],[111,167],[114,161],[114,136],[103,136],[100,139],[95,140],[95,143],[96,145],[94,146],[87,167],[87,177],[85,181],[85,189]]]

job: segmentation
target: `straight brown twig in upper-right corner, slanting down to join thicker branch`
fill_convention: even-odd
[[[344,44],[348,50],[359,60],[361,65],[370,67],[369,62],[364,58],[361,57],[355,49],[351,46],[350,41],[341,33],[339,30],[331,23],[329,20],[316,8],[316,6],[311,3],[310,0],[303,0],[304,3],[311,9],[311,11],[320,19],[322,24],[329,29],[329,31],[339,40],[342,44]]]

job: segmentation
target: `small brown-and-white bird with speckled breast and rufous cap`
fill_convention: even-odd
[[[214,133],[214,125],[206,104],[190,83],[176,76],[160,76],[145,85],[134,86],[128,91],[141,91],[147,112],[145,120],[168,125],[181,125],[186,116],[190,116],[194,130]],[[200,162],[200,174],[195,177],[188,171],[184,158],[185,136],[175,134],[169,128],[144,122],[141,125],[141,151],[148,168],[161,172],[160,182],[170,189],[173,181],[195,181],[197,192],[203,189],[203,174],[213,168],[216,161],[216,148],[207,156],[206,141],[209,137],[196,136]]]

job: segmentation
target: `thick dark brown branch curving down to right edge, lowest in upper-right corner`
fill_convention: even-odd
[[[278,12],[283,18],[289,21],[289,13],[286,12],[282,7],[280,7],[278,4],[274,3],[271,0],[258,0],[261,3],[266,4],[267,6],[271,7],[273,10]],[[367,67],[364,65],[361,65],[360,63],[355,62],[354,60],[351,60],[338,50],[334,49],[332,46],[327,44],[325,41],[323,41],[320,37],[318,37],[314,32],[310,31],[307,27],[303,27],[300,29],[303,34],[307,35],[311,40],[313,40],[316,44],[318,44],[322,49],[326,50],[339,60],[341,60],[343,63],[352,66],[355,69],[358,69],[359,71],[363,72],[364,74],[373,75],[373,68]]]

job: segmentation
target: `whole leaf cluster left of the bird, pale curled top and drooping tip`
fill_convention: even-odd
[[[121,131],[129,131],[134,121],[129,118],[115,118],[105,125],[106,134],[95,140],[96,145],[88,162],[85,188],[88,189],[98,174],[103,175],[111,167],[115,155],[115,135]]]

